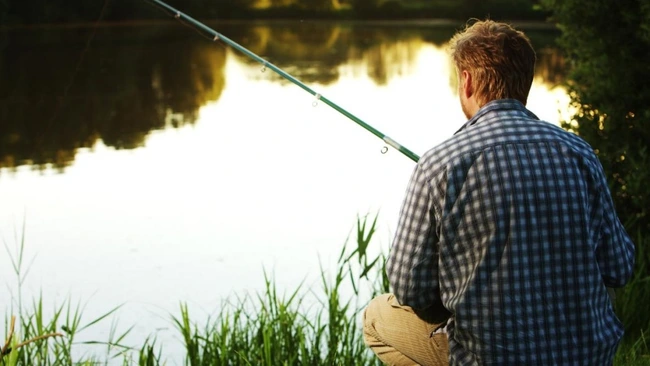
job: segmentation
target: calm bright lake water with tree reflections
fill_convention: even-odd
[[[210,25],[416,154],[464,122],[454,26]],[[262,289],[264,270],[318,288],[359,215],[379,212],[372,250],[387,251],[413,161],[270,70],[173,22],[0,35],[3,314],[17,313],[23,229],[24,303],[70,299],[86,320],[124,304],[133,344],[156,335],[177,360],[180,302],[200,322]],[[529,35],[528,106],[558,123],[555,34]]]

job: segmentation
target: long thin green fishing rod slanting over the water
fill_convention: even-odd
[[[307,85],[303,84],[300,80],[294,78],[293,76],[289,75],[284,70],[282,70],[279,67],[275,66],[274,64],[268,62],[267,60],[261,58],[260,56],[256,55],[255,53],[249,51],[245,47],[239,45],[238,43],[234,42],[230,38],[224,36],[223,34],[215,31],[214,29],[206,26],[205,24],[199,22],[198,20],[190,17],[187,14],[182,13],[181,11],[167,5],[166,3],[164,3],[164,2],[162,2],[160,0],[147,0],[147,1],[149,1],[150,3],[156,5],[157,7],[161,8],[162,10],[165,10],[169,14],[172,14],[174,18],[176,18],[178,20],[185,21],[185,22],[191,24],[192,26],[194,26],[195,28],[198,28],[199,30],[211,35],[212,40],[214,42],[222,41],[223,43],[229,45],[230,47],[236,49],[237,51],[243,53],[244,55],[250,57],[251,59],[259,62],[260,64],[262,64],[263,70],[265,68],[269,68],[269,69],[275,71],[275,73],[277,73],[278,75],[282,76],[286,80],[296,84],[297,86],[301,87],[303,90],[308,92],[309,94],[313,95],[316,98],[316,101],[322,101],[323,103],[325,103],[328,106],[332,107],[337,112],[339,112],[342,115],[348,117],[353,122],[356,122],[359,126],[365,128],[366,130],[371,132],[373,135],[375,135],[375,136],[379,137],[380,139],[382,139],[387,145],[397,149],[402,154],[404,154],[407,157],[411,158],[411,160],[417,162],[420,159],[420,157],[418,155],[416,155],[415,153],[413,153],[411,150],[407,149],[406,147],[400,145],[399,143],[397,143],[397,141],[395,141],[395,140],[391,139],[390,137],[384,135],[383,133],[379,132],[377,129],[375,129],[374,127],[370,126],[369,124],[363,122],[361,119],[359,119],[358,117],[356,117],[352,113],[350,113],[350,112],[346,111],[345,109],[339,107],[336,103],[334,103],[331,100],[327,99],[323,95],[315,92],[313,89],[311,89]],[[385,151],[382,151],[382,152],[385,152]]]

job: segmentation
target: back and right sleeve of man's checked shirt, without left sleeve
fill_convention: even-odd
[[[506,100],[418,166],[451,363],[611,362],[623,330],[605,285],[626,282],[633,246],[589,145]]]

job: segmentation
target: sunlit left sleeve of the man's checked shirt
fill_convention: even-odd
[[[417,165],[402,204],[386,272],[401,305],[424,309],[440,302],[438,238],[429,182]]]

